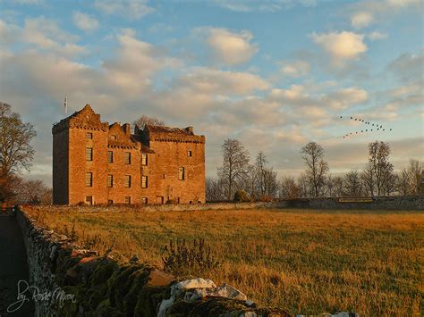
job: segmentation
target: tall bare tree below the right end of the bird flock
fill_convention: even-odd
[[[369,143],[369,164],[372,176],[375,179],[377,196],[383,194],[385,181],[393,164],[389,162],[390,146],[383,141]]]

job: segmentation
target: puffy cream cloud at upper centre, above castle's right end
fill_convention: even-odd
[[[259,50],[257,44],[250,43],[253,36],[247,30],[236,33],[228,29],[200,28],[195,31],[207,34],[206,41],[214,58],[228,66],[248,62]]]

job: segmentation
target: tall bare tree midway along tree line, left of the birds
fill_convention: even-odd
[[[306,175],[314,190],[314,196],[322,194],[329,171],[328,163],[324,161],[324,150],[316,142],[310,142],[301,148],[303,161],[306,164]]]

